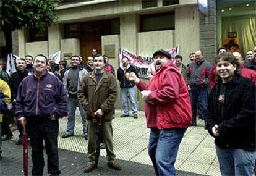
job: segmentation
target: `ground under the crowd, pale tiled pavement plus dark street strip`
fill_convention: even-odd
[[[61,175],[82,175],[87,163],[87,141],[82,136],[82,120],[77,113],[74,137],[62,139],[66,132],[67,118],[60,119],[59,159]],[[106,166],[106,151],[101,150],[98,169],[88,175],[154,175],[153,166],[148,156],[149,130],[145,125],[143,112],[139,118],[120,118],[121,111],[116,110],[113,119],[114,151],[122,164],[120,172]],[[17,131],[13,132],[17,140]],[[0,162],[0,175],[22,175],[22,146],[15,146],[14,141],[4,141],[3,159]],[[46,157],[45,157],[46,158]],[[30,159],[30,167],[32,161]],[[46,159],[45,159],[45,166]],[[176,161],[177,175],[220,175],[216,159],[213,138],[203,128],[202,120],[197,127],[189,127],[182,139]],[[31,168],[30,168],[31,170]],[[45,170],[45,175],[47,175]]]

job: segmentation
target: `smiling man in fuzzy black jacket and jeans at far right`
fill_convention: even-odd
[[[241,77],[233,54],[216,57],[218,83],[210,92],[207,129],[215,138],[221,175],[253,175],[256,162],[255,85]]]

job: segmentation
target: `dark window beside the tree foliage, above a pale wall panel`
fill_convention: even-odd
[[[29,41],[48,41],[48,28],[46,28],[45,30],[29,30]]]

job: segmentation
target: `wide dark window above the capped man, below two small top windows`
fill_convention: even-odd
[[[174,12],[167,14],[141,15],[140,31],[174,30]]]

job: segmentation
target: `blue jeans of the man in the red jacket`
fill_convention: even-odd
[[[151,129],[148,154],[153,162],[156,175],[176,175],[176,161],[179,144],[186,128],[157,130]]]

